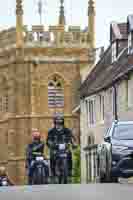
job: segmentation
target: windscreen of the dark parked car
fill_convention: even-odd
[[[133,140],[133,124],[116,125],[113,138],[118,140]]]

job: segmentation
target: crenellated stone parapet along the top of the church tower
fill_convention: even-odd
[[[41,26],[33,25],[31,29],[24,26],[24,43],[30,46],[64,46],[89,47],[88,30],[81,30],[79,26]],[[0,32],[0,48],[16,43],[16,28]]]

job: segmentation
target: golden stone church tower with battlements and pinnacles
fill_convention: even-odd
[[[16,27],[0,32],[0,165],[16,184],[23,184],[25,147],[31,130],[44,140],[55,112],[62,112],[66,126],[79,138],[81,71],[94,63],[95,8],[90,0],[89,27],[69,26],[66,31],[64,1],[60,1],[55,26],[23,25],[23,2],[16,0]],[[89,56],[91,55],[91,56]]]

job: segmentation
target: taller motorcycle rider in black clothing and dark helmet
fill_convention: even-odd
[[[47,146],[50,149],[50,167],[51,167],[51,175],[52,178],[54,179],[56,172],[55,172],[55,156],[54,156],[54,149],[56,142],[55,138],[57,140],[60,140],[61,136],[65,136],[68,142],[70,142],[73,146],[73,135],[70,129],[66,128],[64,126],[64,117],[60,115],[54,116],[54,127],[49,130],[48,132],[48,137],[47,137]],[[68,153],[68,163],[69,163],[69,176],[72,175],[72,153],[69,151]]]

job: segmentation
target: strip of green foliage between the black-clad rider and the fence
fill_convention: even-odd
[[[81,182],[81,159],[80,159],[80,146],[73,150],[73,173],[72,183]]]

